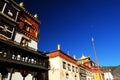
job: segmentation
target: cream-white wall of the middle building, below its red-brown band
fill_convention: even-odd
[[[76,69],[75,72],[72,72],[72,67],[71,67],[71,71],[69,71],[67,65],[66,65],[66,69],[63,69],[63,61],[66,62],[66,64],[70,64],[75,67],[77,67],[77,65],[61,57],[50,58],[49,61],[51,66],[49,70],[49,80],[80,80],[79,73],[76,73]],[[66,78],[66,73],[69,74],[68,78]],[[75,75],[77,77],[75,77]]]

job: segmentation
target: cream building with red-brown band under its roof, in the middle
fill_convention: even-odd
[[[76,59],[67,55],[59,48],[49,52],[49,80],[79,80],[79,70]]]

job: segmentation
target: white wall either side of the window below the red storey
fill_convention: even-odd
[[[20,44],[22,37],[23,34],[16,33],[14,41]],[[38,43],[31,39],[31,41],[28,42],[28,47],[38,50]]]

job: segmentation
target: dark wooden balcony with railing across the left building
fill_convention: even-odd
[[[30,70],[48,70],[48,57],[42,52],[0,40],[0,64]]]

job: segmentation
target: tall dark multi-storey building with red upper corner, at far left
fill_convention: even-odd
[[[48,80],[48,57],[37,47],[40,23],[23,3],[0,0],[1,80]]]

